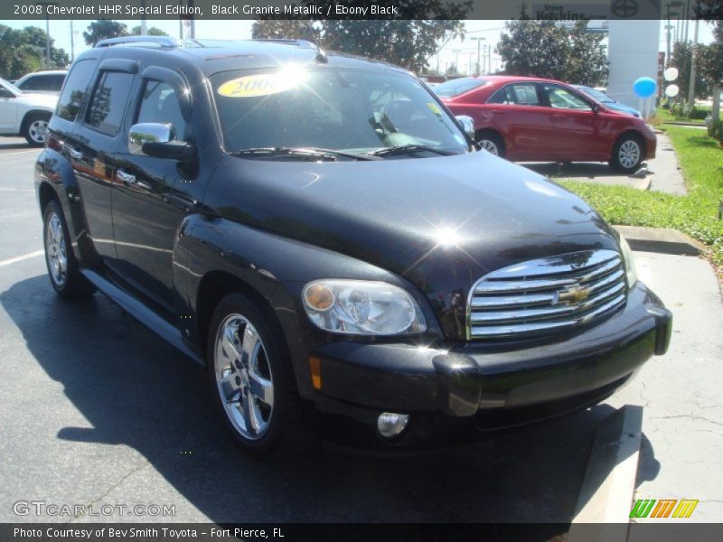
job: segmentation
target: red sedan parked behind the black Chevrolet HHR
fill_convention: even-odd
[[[655,135],[624,115],[551,79],[481,76],[435,87],[455,115],[474,119],[477,142],[512,161],[609,162],[633,173],[655,157]]]

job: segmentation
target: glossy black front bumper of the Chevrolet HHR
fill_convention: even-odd
[[[474,418],[482,428],[519,425],[602,400],[664,354],[670,337],[671,313],[638,283],[605,322],[545,344],[325,344],[315,352],[315,403],[367,424],[390,411]]]

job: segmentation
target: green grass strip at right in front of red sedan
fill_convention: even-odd
[[[723,149],[703,130],[666,126],[678,154],[687,196],[642,192],[625,186],[559,181],[587,200],[610,223],[673,228],[711,249],[713,262],[723,266]]]

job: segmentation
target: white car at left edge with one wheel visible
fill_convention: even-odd
[[[0,135],[23,135],[30,145],[44,145],[57,104],[57,96],[23,92],[0,79]]]

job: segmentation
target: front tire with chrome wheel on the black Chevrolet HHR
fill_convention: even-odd
[[[211,400],[239,446],[262,457],[310,442],[283,337],[278,322],[244,294],[221,299],[211,317]]]

